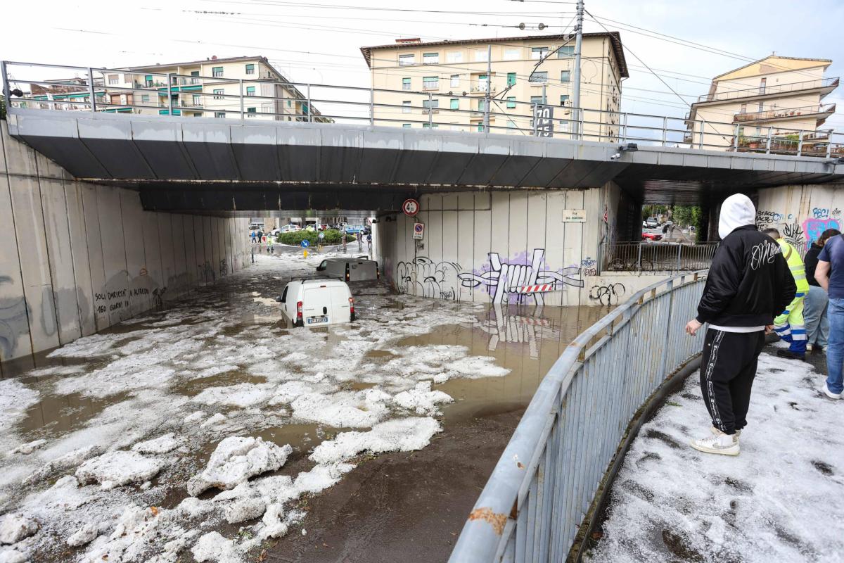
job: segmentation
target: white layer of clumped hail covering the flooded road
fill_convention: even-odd
[[[402,345],[471,326],[479,307],[382,285],[354,288],[358,322],[285,328],[274,296],[324,256],[257,256],[167,311],[0,382],[0,512],[19,517],[0,560],[246,560],[359,454],[425,447],[452,400],[432,385],[508,372],[463,346]],[[30,424],[28,413],[47,411],[39,401],[71,406]],[[289,470],[289,457],[306,464]],[[226,522],[248,533],[225,533]]]

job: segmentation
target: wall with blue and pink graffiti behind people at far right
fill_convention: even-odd
[[[844,184],[783,186],[759,191],[756,224],[808,244],[826,229],[844,230]]]

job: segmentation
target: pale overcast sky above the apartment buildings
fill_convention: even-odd
[[[397,7],[401,8],[383,9]],[[587,0],[586,8],[603,18],[607,29],[621,34],[630,65],[630,78],[622,89],[624,111],[683,116],[688,107],[669,87],[687,95],[684,99],[690,103],[692,96],[706,93],[711,77],[773,51],[787,57],[832,59],[827,76],[839,76],[844,68],[844,2]],[[574,9],[573,2],[551,0],[10,2],[3,6],[0,58],[122,67],[213,55],[262,55],[295,81],[367,86],[368,69],[360,46],[392,43],[398,37],[433,41],[560,33],[571,23]],[[549,27],[544,31],[510,27],[520,23]],[[603,28],[587,20],[585,30]],[[701,47],[643,35],[654,32]],[[666,84],[643,65],[662,75]],[[41,71],[25,73],[21,68],[14,68],[14,74],[43,76]],[[844,102],[844,89],[825,101]],[[842,112],[844,105],[825,127],[844,129]]]

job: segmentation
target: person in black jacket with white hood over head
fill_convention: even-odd
[[[707,453],[737,456],[747,424],[750,389],[765,334],[793,300],[797,286],[782,249],[756,229],[756,209],[738,193],[721,207],[718,246],[706,278],[692,336],[709,323],[701,359],[701,392],[712,417],[711,436],[691,441]]]

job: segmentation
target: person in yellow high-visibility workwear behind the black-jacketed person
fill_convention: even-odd
[[[794,299],[788,304],[785,311],[779,317],[774,319],[774,332],[788,343],[787,350],[776,350],[776,355],[781,358],[790,358],[792,360],[806,359],[806,325],[803,321],[803,300],[806,299],[806,294],[809,293],[809,281],[806,279],[806,266],[803,264],[803,257],[794,246],[791,246],[780,235],[780,231],[776,229],[766,229],[762,231],[776,241],[782,248],[782,257],[788,263],[788,269],[791,270],[794,278],[794,284],[797,285],[797,294]]]

